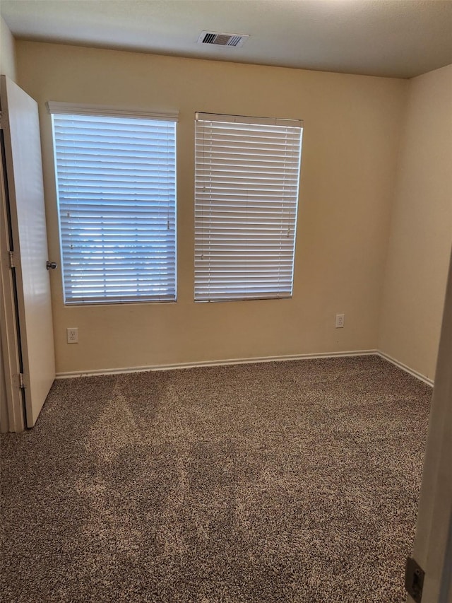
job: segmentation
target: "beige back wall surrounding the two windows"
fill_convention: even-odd
[[[59,237],[47,100],[179,110],[174,304],[65,308],[52,273],[57,371],[375,349],[408,82],[17,42],[40,106],[49,250]],[[304,119],[291,300],[193,301],[194,113]],[[345,313],[345,329],[335,314]],[[66,344],[78,327],[79,344]]]

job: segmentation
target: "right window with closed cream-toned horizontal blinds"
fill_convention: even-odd
[[[292,295],[302,122],[196,114],[195,300]]]

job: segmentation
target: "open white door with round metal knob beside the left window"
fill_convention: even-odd
[[[55,378],[40,127],[35,100],[6,76],[0,84],[25,422],[32,427]]]

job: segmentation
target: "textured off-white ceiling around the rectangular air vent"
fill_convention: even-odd
[[[1,0],[18,39],[410,78],[452,63],[452,0]],[[197,44],[202,30],[249,34]]]

